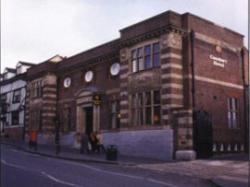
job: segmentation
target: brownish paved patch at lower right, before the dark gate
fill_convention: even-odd
[[[248,187],[247,154],[221,155],[207,160],[161,164],[138,164],[136,167],[158,172],[177,173],[207,179],[222,187]]]

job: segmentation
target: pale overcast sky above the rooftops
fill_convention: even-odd
[[[247,0],[1,0],[1,65],[72,56],[119,37],[119,30],[173,10],[248,35]],[[247,38],[245,38],[247,45]]]

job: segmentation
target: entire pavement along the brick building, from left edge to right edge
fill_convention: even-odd
[[[61,147],[59,155],[55,154],[55,146],[39,145],[37,151],[30,150],[27,143],[14,141],[1,141],[1,144],[16,146],[17,148],[47,157],[54,157],[77,162],[93,162],[117,164],[153,170],[160,173],[175,173],[180,175],[198,177],[213,182],[222,187],[248,186],[248,155],[232,154],[215,156],[207,160],[194,160],[183,162],[166,162],[148,158],[126,157],[118,155],[117,161],[107,161],[105,154],[80,154],[79,150]]]

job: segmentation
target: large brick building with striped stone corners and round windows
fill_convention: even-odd
[[[159,159],[245,151],[248,72],[241,34],[167,11],[30,68],[27,130],[53,143],[59,120],[62,144],[102,131],[121,154]]]

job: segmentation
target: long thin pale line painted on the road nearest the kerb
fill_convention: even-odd
[[[86,164],[77,164],[77,163],[70,162],[70,161],[62,161],[62,160],[60,160],[60,161],[61,162],[67,162],[69,164],[73,164],[73,165],[77,165],[77,166],[80,165],[80,166],[83,166],[85,168],[88,168],[88,169],[91,169],[91,170],[94,170],[94,171],[97,171],[97,172],[100,172],[100,173],[106,173],[106,174],[116,175],[116,176],[121,176],[121,177],[128,177],[128,178],[137,179],[137,180],[147,180],[149,182],[152,182],[152,183],[155,183],[155,184],[161,184],[161,185],[167,186],[167,187],[178,187],[178,186],[176,186],[174,184],[167,183],[167,182],[160,181],[160,180],[156,180],[156,179],[152,179],[152,178],[145,178],[145,177],[141,177],[141,176],[128,175],[128,174],[123,174],[123,173],[118,173],[118,172],[107,171],[107,170],[99,169],[99,168],[92,167],[92,166],[89,166],[89,165],[86,165]]]

